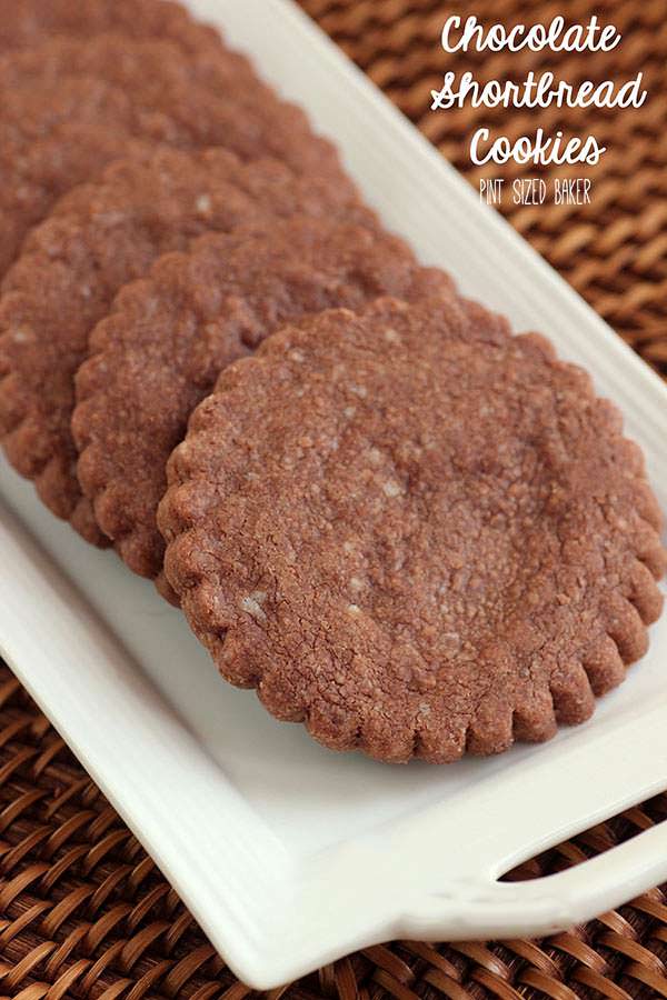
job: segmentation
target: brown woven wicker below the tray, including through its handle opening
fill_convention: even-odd
[[[667,816],[667,796],[530,861],[558,871]],[[326,900],[322,901],[326,906]],[[542,941],[369,948],[269,1000],[667,997],[667,896]],[[0,997],[242,1000],[239,983],[9,670],[0,667]]]

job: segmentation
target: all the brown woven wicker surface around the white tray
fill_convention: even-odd
[[[48,0],[44,0],[48,2]],[[240,2],[240,0],[239,0]],[[563,128],[608,146],[586,208],[514,208],[512,223],[649,363],[667,374],[667,0],[302,0],[371,78],[470,178],[468,143],[488,122],[510,137]],[[624,33],[600,58],[564,57],[571,80],[646,73],[639,111],[431,113],[445,54],[444,17],[475,12],[491,23],[583,21],[596,11]],[[448,57],[454,69],[460,57]],[[465,68],[519,79],[547,67],[502,53]],[[583,171],[579,169],[578,171]],[[500,170],[494,171],[499,176]],[[505,172],[507,178],[515,174]],[[561,173],[559,176],[563,176]],[[667,776],[666,776],[667,783]],[[530,878],[577,863],[667,817],[667,794],[603,823],[514,873]],[[326,900],[322,901],[326,906]],[[659,888],[586,927],[541,941],[394,942],[367,949],[273,991],[270,1000],[467,1000],[525,997],[667,997],[667,893]],[[187,910],[18,681],[0,666],[0,1000],[187,997],[242,1000],[248,990],[215,954]]]

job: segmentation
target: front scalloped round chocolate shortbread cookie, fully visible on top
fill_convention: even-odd
[[[661,609],[616,408],[542,338],[457,326],[384,301],[283,329],[195,411],[159,511],[223,677],[386,761],[581,722]]]

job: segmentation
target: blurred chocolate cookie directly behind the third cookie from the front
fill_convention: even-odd
[[[198,58],[168,41],[58,38],[0,58],[0,274],[57,199],[128,154],[129,139],[273,156],[342,182],[334,147],[303,112],[226,49]]]

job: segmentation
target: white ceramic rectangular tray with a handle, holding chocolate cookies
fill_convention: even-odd
[[[335,136],[388,226],[548,333],[625,410],[667,508],[667,390],[286,0],[192,0]],[[444,768],[337,756],[218,679],[180,614],[0,469],[0,647],[249,984],[395,937],[548,933],[667,879],[667,824],[567,872],[521,859],[667,787],[667,616],[588,724]]]

